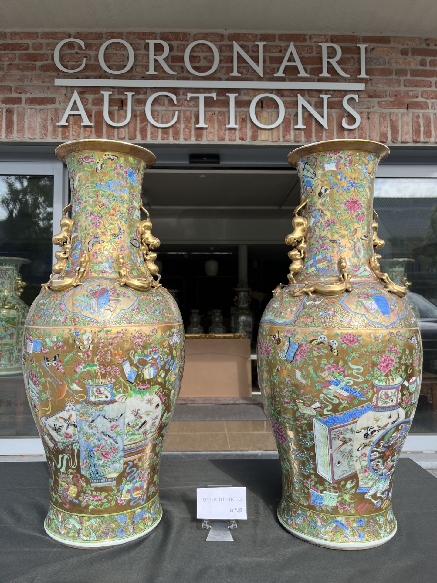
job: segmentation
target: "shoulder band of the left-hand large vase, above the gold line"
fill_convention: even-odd
[[[41,291],[31,305],[28,326],[117,326],[177,324],[179,308],[164,288],[141,292],[114,279],[93,278],[66,291]]]

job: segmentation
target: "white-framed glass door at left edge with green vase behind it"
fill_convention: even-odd
[[[43,454],[16,331],[51,273],[63,184],[62,163],[0,162],[0,455]]]

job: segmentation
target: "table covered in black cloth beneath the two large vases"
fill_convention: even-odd
[[[376,549],[341,552],[309,545],[276,518],[278,459],[161,464],[163,519],[145,538],[104,550],[59,545],[44,532],[44,462],[0,463],[0,581],[8,583],[422,583],[437,574],[437,479],[411,459],[394,484],[398,532]],[[207,543],[196,519],[196,487],[246,486],[248,520],[234,542]]]

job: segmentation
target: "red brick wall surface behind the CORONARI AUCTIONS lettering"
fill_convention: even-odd
[[[87,64],[80,73],[68,75],[58,70],[54,63],[54,48],[60,40],[72,37],[84,41],[81,50],[68,43],[62,50],[62,64],[77,67],[85,56]],[[297,92],[276,90],[283,100],[286,115],[282,124],[274,129],[260,129],[249,118],[249,104],[256,94],[264,90],[232,90],[239,93],[235,101],[237,129],[227,129],[229,90],[203,90],[217,93],[217,100],[205,100],[207,128],[196,128],[198,123],[198,100],[188,101],[188,89],[163,89],[174,93],[177,104],[170,99],[158,98],[153,103],[153,116],[161,123],[168,122],[178,111],[178,121],[171,128],[157,128],[147,121],[145,104],[147,97],[160,89],[114,89],[110,99],[110,116],[122,121],[126,115],[125,91],[135,91],[132,118],[122,128],[114,128],[103,120],[103,96],[99,87],[78,87],[77,91],[93,127],[81,127],[80,117],[69,117],[68,126],[59,127],[57,122],[73,94],[74,87],[55,86],[58,77],[104,77],[98,63],[100,45],[110,38],[123,38],[135,51],[135,64],[124,79],[146,78],[148,50],[146,40],[165,40],[170,45],[166,61],[178,73],[179,79],[196,80],[256,80],[256,72],[239,58],[241,77],[230,77],[232,71],[232,41],[258,61],[258,46],[255,41],[266,41],[264,45],[263,80],[274,80],[290,42],[301,58],[302,65],[311,77],[298,78],[297,68],[288,66],[286,77],[280,80],[326,80],[365,82],[364,92],[358,92],[359,103],[353,107],[361,115],[357,129],[347,131],[341,125],[345,117],[342,99],[348,92],[326,90],[328,102],[328,128],[325,129],[311,114],[304,110],[305,129],[297,125]],[[184,51],[193,40],[209,40],[220,51],[220,66],[207,77],[187,74],[184,67]],[[321,48],[318,43],[337,43],[343,56],[339,65],[350,75],[345,79],[332,67],[330,78],[318,78],[322,72]],[[366,49],[366,73],[369,79],[357,79],[360,74],[358,43],[368,44]],[[213,61],[211,50],[206,45],[197,45],[192,51],[191,63],[198,71],[206,71]],[[127,63],[127,51],[121,44],[111,44],[105,52],[105,62],[114,69],[122,69]],[[159,66],[153,79],[171,79]],[[313,79],[312,79],[313,78]],[[184,142],[184,143],[308,143],[332,138],[368,138],[393,145],[427,144],[437,141],[437,38],[383,37],[383,36],[339,36],[324,34],[288,33],[196,33],[196,32],[132,32],[118,31],[90,33],[80,31],[9,31],[0,33],[0,141],[59,142],[76,138],[128,139],[135,142]],[[151,79],[151,77],[149,77]],[[104,90],[110,90],[105,88]],[[202,90],[193,89],[199,93]],[[302,97],[321,113],[320,91],[299,91]],[[353,92],[354,93],[354,92]],[[258,102],[257,117],[263,124],[277,118],[277,104],[272,99]],[[346,115],[347,119],[347,115]]]

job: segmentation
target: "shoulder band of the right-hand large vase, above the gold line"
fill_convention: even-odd
[[[292,328],[418,328],[417,317],[408,302],[382,285],[357,283],[339,296],[292,296],[298,287],[289,285],[276,293],[261,324]]]

